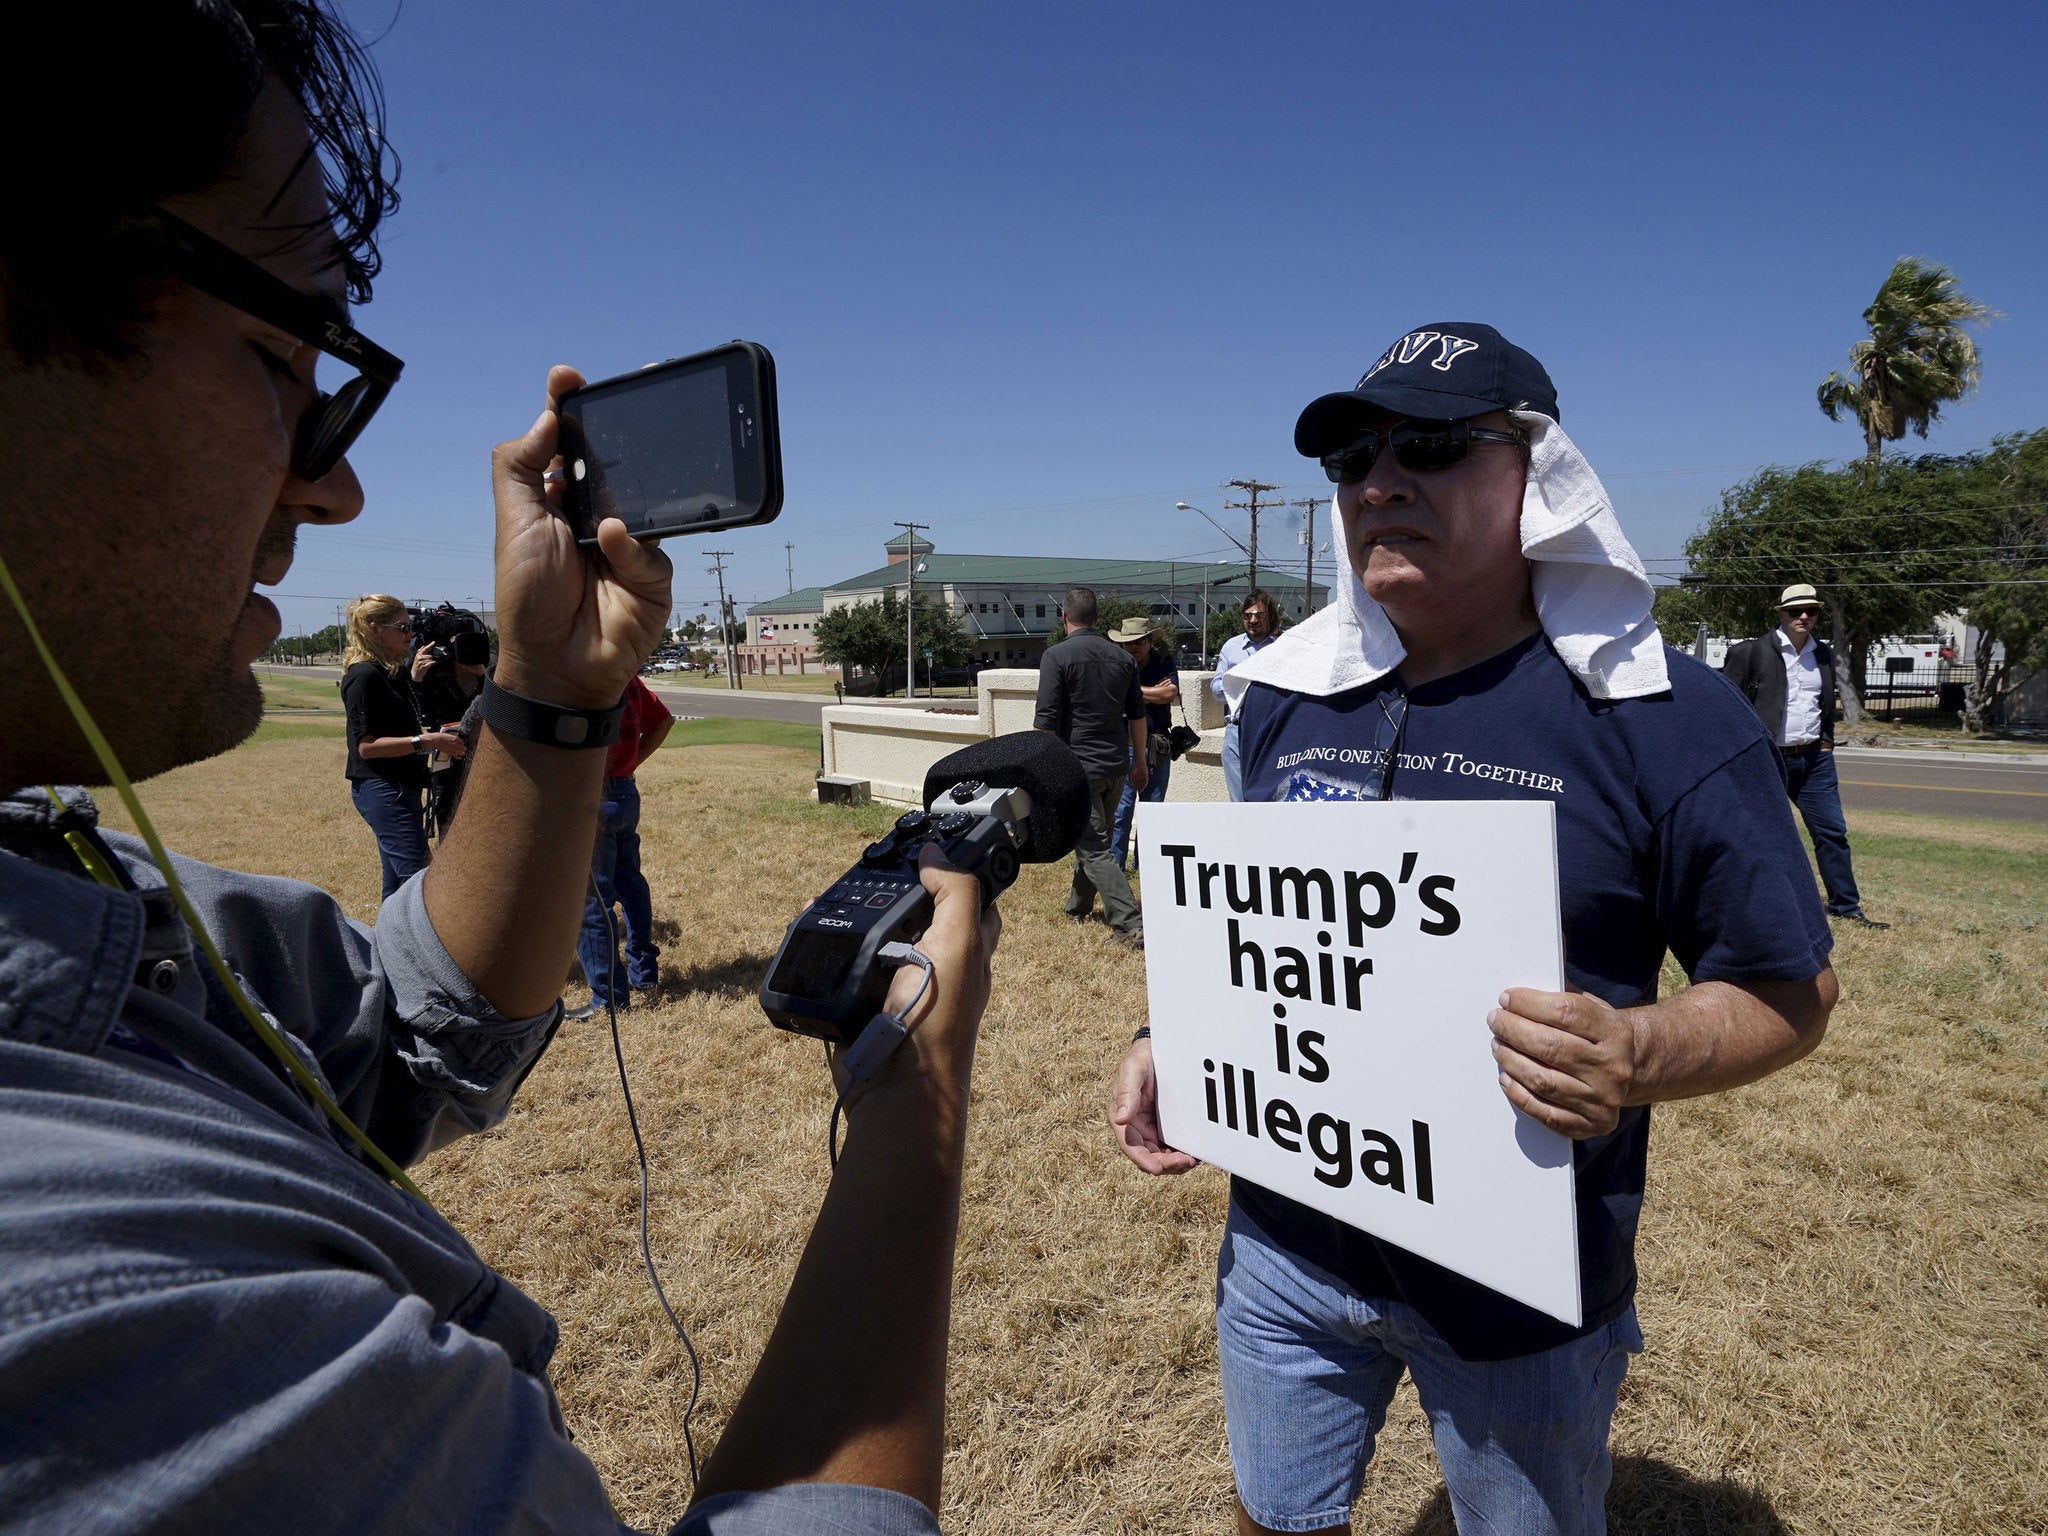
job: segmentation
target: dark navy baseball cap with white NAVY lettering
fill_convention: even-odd
[[[1364,430],[1370,408],[1421,422],[1456,422],[1499,410],[1556,414],[1556,385],[1542,362],[1493,326],[1444,319],[1419,326],[1366,369],[1356,389],[1311,399],[1294,422],[1294,449],[1321,459]]]

